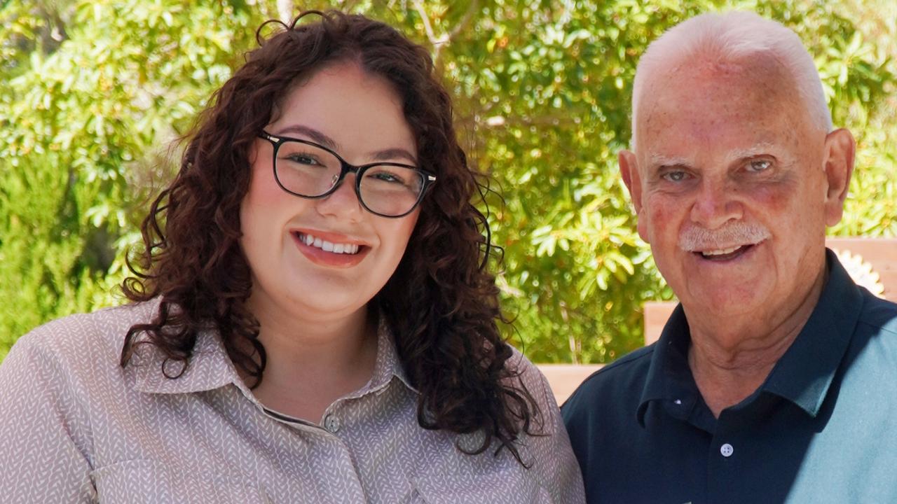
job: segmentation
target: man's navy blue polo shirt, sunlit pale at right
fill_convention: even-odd
[[[562,413],[588,502],[897,502],[897,304],[831,251],[827,267],[795,342],[718,419],[688,367],[682,306],[657,343],[583,382]]]

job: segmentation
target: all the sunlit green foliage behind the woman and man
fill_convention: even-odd
[[[366,13],[431,48],[489,202],[512,343],[534,361],[605,362],[641,344],[641,304],[670,299],[634,230],[615,154],[650,40],[696,13],[784,22],[858,137],[844,222],[897,236],[893,0],[0,0],[0,359],[51,318],[121,302],[123,257],[171,141],[297,9]]]

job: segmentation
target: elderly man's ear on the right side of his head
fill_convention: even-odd
[[[834,226],[844,214],[844,200],[853,174],[857,143],[844,128],[825,135],[823,169],[827,182],[825,190],[825,224]]]

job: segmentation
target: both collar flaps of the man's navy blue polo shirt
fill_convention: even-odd
[[[838,257],[826,249],[828,280],[806,325],[773,367],[761,390],[797,404],[811,416],[819,413],[840,361],[847,351],[862,309],[862,294]],[[637,416],[644,426],[651,401],[682,401],[683,411],[697,401],[698,390],[688,368],[691,332],[682,305],[676,306],[655,343]]]

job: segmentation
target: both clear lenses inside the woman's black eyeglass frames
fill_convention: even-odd
[[[285,141],[274,159],[283,188],[299,196],[327,193],[339,179],[342,163],[332,152],[308,143]],[[359,183],[361,203],[372,212],[401,215],[417,204],[423,174],[411,168],[378,164],[365,169]]]

